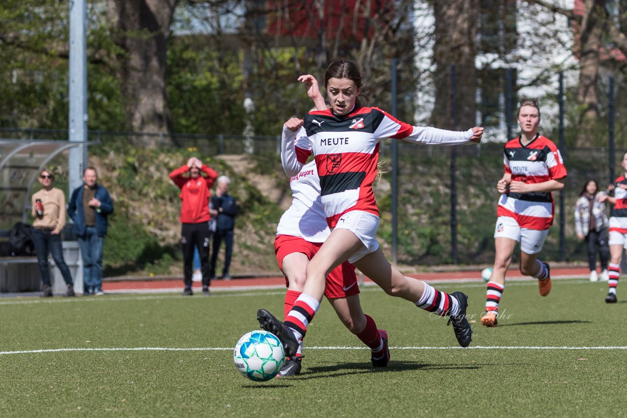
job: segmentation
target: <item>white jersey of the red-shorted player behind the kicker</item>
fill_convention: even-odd
[[[290,178],[292,206],[281,217],[277,235],[297,236],[309,243],[324,243],[331,233],[320,199],[320,178],[315,161],[303,165]]]

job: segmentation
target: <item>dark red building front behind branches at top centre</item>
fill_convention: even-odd
[[[368,3],[369,11],[366,10]],[[267,31],[271,35],[359,43],[364,37],[372,36],[375,29],[372,21],[391,19],[392,4],[391,0],[269,0],[268,10],[273,12],[266,21]]]

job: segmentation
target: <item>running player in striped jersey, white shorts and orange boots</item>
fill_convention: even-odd
[[[538,133],[537,100],[523,99],[518,110],[520,135],[505,144],[505,174],[498,180],[501,193],[494,232],[496,255],[488,281],[485,315],[481,323],[497,326],[498,303],[505,289],[505,273],[520,242],[520,273],[538,279],[541,296],[551,291],[551,269],[538,259],[553,223],[551,192],[564,187],[566,167],[556,145]]]

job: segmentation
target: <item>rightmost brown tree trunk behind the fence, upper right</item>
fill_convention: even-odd
[[[577,102],[581,103],[577,147],[586,146],[593,135],[594,124],[599,116],[599,97],[596,83],[599,75],[601,51],[601,24],[603,22],[604,0],[586,0],[584,16],[581,20],[579,53],[579,83]]]

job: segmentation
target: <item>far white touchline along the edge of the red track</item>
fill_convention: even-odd
[[[572,277],[568,277],[572,278]],[[562,278],[559,281],[560,285],[585,285],[590,283],[587,280],[565,280],[566,278]],[[551,278],[552,280],[552,278]],[[596,282],[598,285],[603,282]],[[459,283],[459,281],[451,281],[450,283],[436,283],[436,286],[440,289],[446,288],[455,288],[455,289],[465,289],[465,288],[485,288],[485,283],[480,282],[477,283],[476,279],[473,279],[473,283]],[[537,286],[535,279],[531,280],[520,280],[520,281],[508,281],[508,288],[512,286]],[[256,286],[242,286],[238,288],[227,288],[222,290],[221,294],[216,294],[216,292],[212,293],[209,296],[209,300],[211,298],[233,298],[233,297],[243,297],[243,296],[271,296],[271,295],[284,295],[285,294],[285,286],[275,287],[276,291],[254,291],[253,290],[271,290],[273,288],[266,288],[265,286],[256,287]],[[278,290],[280,289],[280,290]],[[0,300],[0,306],[2,305],[36,305],[36,304],[44,304],[44,303],[83,303],[83,302],[105,302],[105,301],[125,301],[125,300],[155,300],[155,299],[167,299],[167,298],[182,298],[179,295],[181,290],[172,290],[171,288],[167,289],[139,289],[139,290],[129,290],[125,289],[124,291],[115,291],[116,295],[113,296],[113,291],[108,291],[105,296],[78,296],[76,298],[45,298],[45,299],[30,299],[30,300]],[[213,290],[212,290],[213,291]],[[375,283],[365,283],[365,286],[361,288],[362,292],[370,292],[370,291],[382,291],[379,286]],[[135,293],[137,292],[137,293]],[[229,292],[229,293],[226,293]],[[152,294],[159,295],[152,295]],[[164,295],[166,293],[166,295]],[[176,293],[176,295],[174,295]],[[189,296],[185,296],[189,298]],[[204,299],[206,296],[191,296],[192,299]]]

